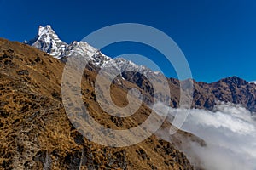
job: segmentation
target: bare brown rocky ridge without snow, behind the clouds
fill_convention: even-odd
[[[145,102],[152,103],[154,97],[154,88],[146,77],[138,73],[123,73],[125,80],[131,82],[145,94]],[[120,80],[125,84],[123,80]],[[161,80],[155,80],[161,81]],[[181,82],[183,83],[183,82]],[[171,106],[177,107],[180,97],[180,82],[177,79],[169,79],[169,87],[171,89]],[[203,108],[212,110],[213,106],[219,102],[230,102],[239,104],[247,108],[247,110],[256,112],[256,84],[242,80],[239,77],[227,77],[218,82],[206,83],[193,81],[193,108]],[[156,98],[160,99],[158,94]],[[148,102],[147,102],[148,101]]]

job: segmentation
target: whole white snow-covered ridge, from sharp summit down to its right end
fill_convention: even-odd
[[[87,42],[74,41],[70,44],[62,42],[49,25],[39,26],[37,37],[25,43],[38,48],[57,59],[61,59],[62,57],[81,56],[88,59],[88,61],[90,60],[90,62],[97,67],[111,65],[112,68],[110,69],[114,71],[124,71],[124,69],[128,69],[130,71],[140,71],[145,74],[159,74],[158,71],[151,71],[147,67],[143,65],[136,65],[127,59],[111,59],[110,57],[102,54],[100,50],[90,46]]]

